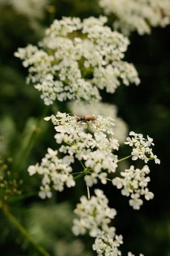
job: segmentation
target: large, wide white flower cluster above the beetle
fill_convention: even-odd
[[[133,64],[123,61],[129,40],[104,26],[107,18],[63,17],[46,30],[38,47],[18,48],[16,57],[29,66],[27,82],[41,91],[46,105],[53,101],[100,100],[98,89],[114,93],[120,85],[140,79]]]

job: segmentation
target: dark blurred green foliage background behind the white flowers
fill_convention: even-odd
[[[40,162],[47,147],[57,148],[51,123],[44,117],[67,111],[66,102],[56,102],[44,106],[40,94],[33,85],[26,85],[28,70],[22,67],[19,59],[13,56],[18,47],[27,43],[37,44],[44,30],[53,18],[98,16],[102,10],[97,0],[51,1],[55,13],[45,8],[44,19],[38,21],[39,29],[30,26],[27,17],[18,14],[10,5],[0,6],[0,155],[2,159],[11,157],[11,172],[17,172],[23,180],[23,194],[39,190],[40,178],[29,177],[27,167]],[[112,21],[108,22],[111,26]],[[144,202],[139,211],[134,211],[128,198],[111,184],[104,187],[109,198],[109,206],[117,209],[113,225],[117,233],[124,237],[120,250],[123,255],[132,251],[145,256],[170,256],[170,200],[169,200],[169,130],[170,130],[170,26],[153,28],[151,35],[130,36],[130,46],[125,54],[128,62],[136,66],[141,85],[120,86],[114,95],[102,92],[104,102],[113,103],[119,108],[119,116],[128,124],[129,130],[149,135],[154,139],[153,152],[161,160],[155,165],[149,162],[151,182],[149,190],[154,199]],[[77,113],[78,114],[78,113]],[[36,129],[40,122],[39,129]],[[3,137],[3,138],[2,138]],[[32,143],[29,143],[31,139]],[[122,157],[129,155],[129,148],[120,150]],[[134,164],[127,161],[126,166]],[[143,162],[135,163],[141,167]],[[79,167],[78,167],[79,168]],[[120,166],[121,168],[121,166]],[[100,185],[99,185],[100,186]],[[101,188],[103,188],[101,186]],[[80,191],[80,194],[77,191]],[[55,192],[52,199],[42,201],[37,194],[9,202],[10,211],[20,223],[51,255],[95,255],[91,251],[93,240],[81,237],[78,243],[71,232],[73,209],[79,197],[86,194],[83,181],[62,193]],[[29,195],[29,194],[28,194]],[[0,212],[0,255],[36,256],[40,255],[32,245],[16,230]],[[74,248],[74,250],[73,250]],[[75,250],[77,249],[77,250]],[[76,254],[77,253],[79,254]],[[86,252],[89,251],[89,252]]]

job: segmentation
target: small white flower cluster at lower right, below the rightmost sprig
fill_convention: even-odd
[[[153,199],[154,197],[154,194],[147,188],[150,177],[145,177],[145,175],[149,174],[149,172],[150,170],[147,165],[143,166],[141,170],[135,170],[134,166],[131,165],[130,169],[125,169],[124,172],[120,172],[121,176],[124,178],[115,177],[112,180],[113,185],[118,189],[123,187],[121,190],[123,196],[131,196],[129,204],[134,210],[139,210],[140,206],[143,204],[140,195],[145,195],[146,200]]]

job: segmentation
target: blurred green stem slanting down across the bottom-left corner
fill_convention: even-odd
[[[9,207],[7,206],[7,204],[4,204],[2,206],[2,210],[5,214],[5,216],[8,218],[8,220],[10,220],[10,222],[21,232],[22,235],[24,235],[28,241],[34,245],[34,247],[36,248],[36,250],[38,250],[42,255],[44,256],[50,256],[50,254],[48,252],[45,251],[45,249],[43,247],[41,247],[39,244],[37,244],[34,239],[32,238],[32,236],[29,235],[29,233],[27,232],[27,230],[18,222],[18,220],[9,212]]]

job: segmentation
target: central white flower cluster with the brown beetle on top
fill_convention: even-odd
[[[60,117],[61,119],[58,119]],[[106,183],[107,174],[102,170],[107,170],[108,173],[115,172],[117,168],[118,156],[112,153],[113,150],[119,149],[118,140],[107,138],[107,134],[114,134],[112,123],[114,120],[111,117],[103,118],[98,116],[94,122],[83,122],[81,127],[76,124],[76,118],[69,116],[66,113],[58,112],[56,117],[51,116],[57,134],[55,139],[57,143],[66,143],[59,149],[64,154],[69,154],[69,158],[77,158],[79,161],[84,160],[86,169],[88,170],[89,180],[86,179],[88,186],[92,186],[96,183],[95,177],[99,177],[103,182]],[[47,120],[46,119],[46,120]],[[92,134],[84,132],[84,129],[93,128],[94,138]],[[73,156],[74,155],[74,156]],[[106,175],[106,176],[103,176]],[[88,176],[86,176],[88,177]]]

